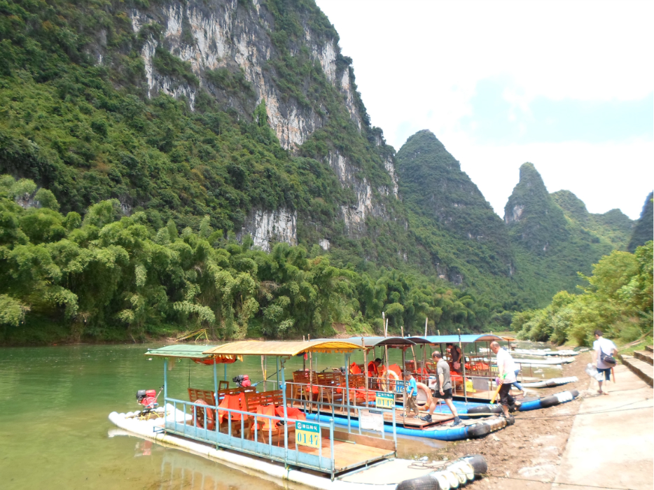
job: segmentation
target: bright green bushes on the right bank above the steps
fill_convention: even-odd
[[[625,342],[651,336],[652,255],[652,241],[635,253],[613,251],[593,265],[592,276],[582,276],[582,294],[561,291],[545,309],[515,314],[513,330],[523,339],[580,345],[590,344],[597,328]]]

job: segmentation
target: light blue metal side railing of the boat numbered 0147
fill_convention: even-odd
[[[289,419],[288,416],[267,415],[245,412],[239,409],[217,407],[204,403],[165,398],[165,402],[175,408],[172,419],[165,415],[164,426],[167,432],[188,437],[201,442],[209,442],[217,448],[262,456],[286,465],[297,465],[319,472],[335,475],[334,460],[334,421],[311,421],[309,423]],[[183,413],[181,416],[178,412]],[[217,419],[224,412],[228,423],[221,426],[214,419],[214,428],[207,423],[207,410],[212,410]],[[202,414],[204,423],[200,423]],[[190,416],[190,417],[189,417]],[[267,423],[265,421],[267,420]],[[234,423],[236,421],[236,423]],[[270,429],[259,428],[259,423]],[[281,424],[278,425],[278,423]],[[277,428],[272,429],[272,427]],[[226,429],[226,433],[222,430]],[[277,437],[273,438],[273,432]],[[238,433],[238,435],[235,435]],[[289,433],[294,433],[289,440]],[[263,437],[262,437],[263,435]],[[264,442],[260,442],[260,439]],[[274,443],[277,443],[275,445]],[[302,448],[306,448],[302,450]],[[318,449],[314,454],[314,449]]]

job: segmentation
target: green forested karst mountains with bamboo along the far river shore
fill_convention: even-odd
[[[529,165],[502,223],[430,132],[396,172],[313,0],[0,13],[0,342],[479,331],[627,242]]]

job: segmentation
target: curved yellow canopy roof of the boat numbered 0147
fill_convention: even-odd
[[[340,340],[308,340],[306,342],[260,342],[249,340],[230,342],[204,351],[204,354],[232,354],[236,356],[297,356],[302,352],[352,352],[361,346]]]

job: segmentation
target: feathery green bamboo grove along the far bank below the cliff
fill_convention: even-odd
[[[24,209],[17,202],[29,202]],[[33,181],[0,177],[0,341],[140,339],[206,328],[215,337],[305,333],[478,330],[489,304],[445,281],[397,271],[377,276],[333,267],[322,249],[277,244],[251,249],[214,231],[173,221],[153,228],[117,200],[66,215]],[[418,325],[416,327],[415,325]],[[53,332],[53,330],[56,330]]]

